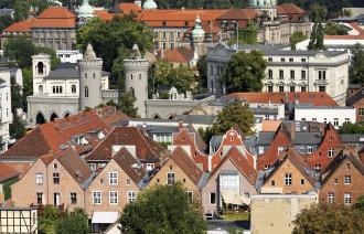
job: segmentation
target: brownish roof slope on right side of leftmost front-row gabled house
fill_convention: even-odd
[[[87,162],[72,147],[56,155],[56,160],[79,184],[83,184],[93,173]]]

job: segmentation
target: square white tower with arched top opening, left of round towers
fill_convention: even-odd
[[[51,72],[51,55],[36,54],[32,56],[33,68],[33,94],[43,94],[46,91],[43,78]]]

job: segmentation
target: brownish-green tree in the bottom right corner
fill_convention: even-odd
[[[363,233],[363,213],[346,205],[315,204],[304,209],[295,221],[293,233]]]

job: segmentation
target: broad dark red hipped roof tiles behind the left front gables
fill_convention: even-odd
[[[86,160],[110,160],[113,146],[136,146],[136,155],[140,160],[157,161],[163,147],[154,142],[136,127],[116,127],[86,157]]]

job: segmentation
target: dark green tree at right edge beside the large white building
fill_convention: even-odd
[[[349,67],[350,82],[364,85],[364,47],[355,44],[352,47],[352,61]]]

